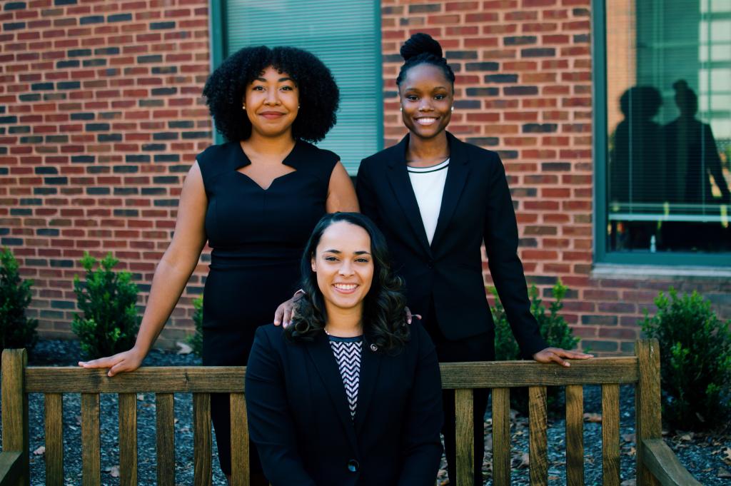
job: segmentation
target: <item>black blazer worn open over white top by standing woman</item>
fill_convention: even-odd
[[[429,311],[452,341],[495,327],[485,298],[480,246],[524,357],[547,347],[541,338],[518,257],[518,224],[497,153],[463,143],[447,132],[450,165],[431,246],[409,174],[409,135],[364,159],[356,191],[360,210],[384,232],[395,270],[406,280],[409,308]],[[438,195],[435,195],[438,197]]]

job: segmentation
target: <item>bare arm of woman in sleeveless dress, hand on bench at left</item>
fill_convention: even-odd
[[[113,356],[79,362],[80,366],[109,368],[108,376],[114,376],[121,371],[135,371],[140,367],[198,263],[206,241],[204,221],[207,205],[203,178],[196,162],[183,183],[173,241],[155,270],[135,346]]]

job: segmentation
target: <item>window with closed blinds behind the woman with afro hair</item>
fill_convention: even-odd
[[[212,2],[214,63],[247,45],[292,45],[314,53],[340,88],[338,123],[318,144],[352,175],[382,148],[381,26],[378,1],[227,0]],[[222,21],[220,20],[222,18]],[[216,50],[220,52],[216,53]],[[218,59],[216,59],[218,58]]]

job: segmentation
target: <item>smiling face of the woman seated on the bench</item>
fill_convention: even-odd
[[[371,237],[366,229],[346,221],[330,224],[311,259],[317,286],[328,315],[334,311],[363,312],[363,299],[374,275]]]

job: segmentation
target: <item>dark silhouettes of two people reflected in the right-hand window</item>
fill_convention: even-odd
[[[613,251],[731,251],[731,193],[711,126],[696,118],[697,94],[673,83],[680,113],[662,126],[662,95],[633,86],[610,137],[609,244]]]

